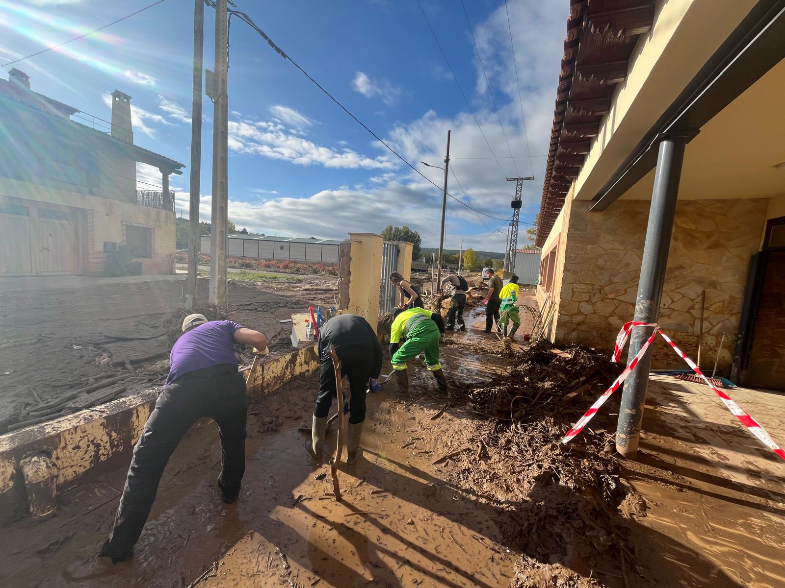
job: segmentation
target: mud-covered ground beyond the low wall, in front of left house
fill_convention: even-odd
[[[271,275],[230,281],[226,317],[265,332],[276,348],[290,334],[279,319],[331,306],[336,279]],[[182,276],[0,280],[0,434],[159,383],[172,343],[165,320],[184,287]],[[206,280],[199,292],[206,300]]]

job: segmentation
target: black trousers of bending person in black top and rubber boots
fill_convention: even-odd
[[[356,425],[365,420],[365,393],[368,389],[368,379],[371,378],[371,364],[374,359],[373,347],[367,345],[352,345],[352,347],[338,347],[335,351],[341,360],[341,376],[349,378],[349,423]],[[335,370],[333,361],[327,356],[322,360],[319,371],[319,394],[316,396],[316,406],[313,416],[323,419],[330,414],[330,405],[338,394],[335,390]],[[344,397],[347,394],[344,391]],[[343,410],[339,406],[338,410]]]

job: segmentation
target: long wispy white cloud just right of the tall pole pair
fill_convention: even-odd
[[[302,116],[297,111],[291,112]],[[310,121],[308,118],[302,118]],[[278,118],[261,122],[229,121],[228,145],[232,151],[263,155],[266,158],[280,159],[297,165],[323,165],[333,169],[396,167],[386,155],[370,158],[347,147],[338,150],[317,145],[291,130],[287,132]]]

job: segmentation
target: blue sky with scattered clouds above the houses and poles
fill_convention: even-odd
[[[535,180],[524,183],[520,216],[533,220],[542,194],[542,155],[547,153],[553,119],[566,0],[509,0],[520,101],[505,3],[464,0],[498,116],[461,3],[420,0],[482,132],[417,0],[235,2],[345,107],[439,185],[443,172],[419,162],[443,165],[451,129],[455,176],[450,174],[448,190],[462,201],[468,198],[477,209],[508,218],[513,183],[504,176],[533,172]],[[0,63],[150,3],[4,2]],[[130,94],[135,142],[188,165],[192,14],[190,0],[166,0],[13,67],[31,76],[35,91],[106,120],[111,119],[108,94],[114,89]],[[205,9],[205,33],[205,67],[214,69],[210,7]],[[239,19],[232,19],[230,45],[228,212],[237,227],[266,234],[345,238],[349,231],[378,232],[389,223],[407,224],[420,232],[423,245],[438,245],[441,194],[436,187],[374,140]],[[0,75],[6,77],[8,69],[0,66]],[[213,105],[206,96],[203,100],[200,216],[209,221]],[[160,184],[156,170],[144,166],[138,179]],[[188,169],[181,177],[173,176],[172,187],[178,211],[187,216]],[[502,220],[478,218],[447,200],[447,247],[457,249],[463,238],[465,247],[502,251],[505,236],[495,232],[500,225],[503,233]],[[519,244],[525,242],[525,227],[520,227]]]

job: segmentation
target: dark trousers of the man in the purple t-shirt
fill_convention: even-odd
[[[221,435],[221,476],[225,494],[239,490],[245,473],[246,385],[235,365],[191,372],[164,388],[144,423],[122,490],[115,528],[101,555],[122,557],[141,535],[155,493],[174,448],[192,424],[213,419]]]

